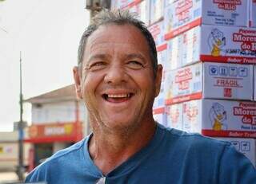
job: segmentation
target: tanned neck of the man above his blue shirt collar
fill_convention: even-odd
[[[93,127],[94,135],[90,139],[89,152],[94,164],[103,174],[114,170],[150,142],[155,127],[153,118],[131,131],[126,128],[105,133]]]

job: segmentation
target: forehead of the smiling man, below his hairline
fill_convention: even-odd
[[[105,49],[122,49],[145,53],[149,56],[149,45],[141,31],[134,25],[101,25],[88,37],[85,54]]]

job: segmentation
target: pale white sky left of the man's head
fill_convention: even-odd
[[[0,1],[0,131],[19,120],[19,58],[26,100],[73,83],[80,37],[89,24],[85,0]],[[23,119],[30,123],[30,104]]]

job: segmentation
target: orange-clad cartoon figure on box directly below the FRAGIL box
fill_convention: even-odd
[[[221,104],[214,103],[210,108],[209,116],[214,131],[227,129],[227,125],[224,123],[226,120],[226,111]]]

